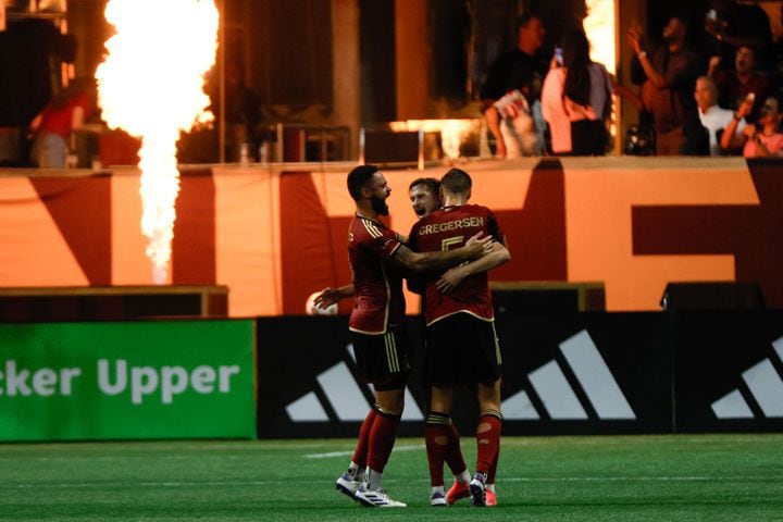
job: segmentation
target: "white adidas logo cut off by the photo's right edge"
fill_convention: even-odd
[[[778,359],[783,362],[783,337],[772,343]],[[766,418],[783,417],[783,380],[768,358],[742,373],[753,399]],[[734,389],[712,402],[718,419],[755,419],[743,393]]]

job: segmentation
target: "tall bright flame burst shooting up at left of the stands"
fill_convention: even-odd
[[[212,120],[203,85],[217,50],[217,9],[213,0],[110,0],[105,17],[116,34],[96,72],[98,102],[111,128],[141,138],[141,233],[161,285],[179,191],[176,142]]]

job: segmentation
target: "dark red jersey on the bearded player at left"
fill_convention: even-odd
[[[402,273],[391,263],[397,234],[378,221],[356,215],[348,228],[348,260],[353,273],[353,310],[348,327],[385,334],[405,321]]]

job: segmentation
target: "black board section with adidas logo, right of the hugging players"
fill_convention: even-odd
[[[498,315],[504,433],[669,431],[664,321],[660,313]]]

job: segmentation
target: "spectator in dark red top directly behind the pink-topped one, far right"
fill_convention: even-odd
[[[765,100],[772,95],[772,86],[767,75],[757,70],[756,51],[749,46],[739,46],[734,54],[734,67],[724,71],[720,67],[720,57],[710,59],[708,74],[718,86],[718,103],[736,110],[739,103],[754,94],[756,102],[750,111],[750,121],[756,121]]]

